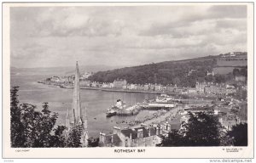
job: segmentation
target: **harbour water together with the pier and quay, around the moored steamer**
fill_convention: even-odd
[[[73,88],[60,88],[55,85],[42,84],[36,81],[47,76],[34,76],[31,74],[21,74],[11,76],[11,85],[20,86],[20,102],[35,104],[38,110],[41,109],[43,102],[49,102],[49,109],[59,114],[57,125],[65,125],[67,108],[72,108]],[[81,105],[88,110],[88,130],[91,137],[98,137],[99,132],[112,132],[113,126],[137,127],[144,124],[165,121],[167,117],[177,115],[177,111],[183,108],[183,104],[189,104],[189,98],[174,98],[172,104],[177,107],[168,107],[165,104],[157,104],[155,100],[160,97],[160,93],[140,93],[127,91],[102,91],[100,88],[83,89],[81,88]],[[57,94],[57,95],[56,95]],[[29,101],[27,99],[30,99]],[[113,102],[117,99],[125,101],[127,106],[134,107],[136,110],[119,110],[114,115],[106,116]],[[145,103],[145,101],[148,101]],[[206,103],[204,103],[206,102]],[[193,104],[206,105],[211,100],[194,98]],[[181,104],[183,103],[183,104]]]

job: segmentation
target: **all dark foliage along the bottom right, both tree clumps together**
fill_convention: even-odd
[[[174,130],[158,146],[247,146],[247,123],[226,132],[214,115],[190,114],[183,130]]]

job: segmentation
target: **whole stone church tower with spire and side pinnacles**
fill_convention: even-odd
[[[76,63],[75,69],[75,78],[73,81],[73,110],[72,110],[72,117],[69,115],[69,110],[67,109],[67,116],[66,116],[66,126],[67,132],[69,131],[70,127],[72,126],[82,126],[81,132],[81,143],[82,147],[87,146],[87,139],[89,138],[88,135],[88,128],[87,128],[87,110],[85,107],[84,115],[82,114],[81,110],[81,101],[80,101],[80,87],[79,87],[79,64]]]

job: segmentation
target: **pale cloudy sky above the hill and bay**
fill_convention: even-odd
[[[10,9],[11,66],[145,65],[247,51],[247,7]]]

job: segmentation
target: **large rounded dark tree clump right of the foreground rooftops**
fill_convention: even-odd
[[[221,126],[217,117],[199,113],[189,114],[188,123],[183,124],[183,130],[168,133],[162,139],[159,146],[219,146],[221,144],[230,145],[227,140],[222,141],[224,135],[221,134]]]

